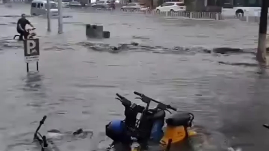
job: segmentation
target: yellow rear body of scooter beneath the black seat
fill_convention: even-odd
[[[166,146],[168,145],[169,139],[172,139],[171,143],[179,143],[179,141],[183,141],[186,137],[194,135],[196,135],[195,131],[188,130],[188,128],[184,126],[167,126],[164,137],[162,137],[160,143]]]

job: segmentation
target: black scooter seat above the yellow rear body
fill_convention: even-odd
[[[166,124],[168,126],[189,126],[190,118],[189,113],[176,113],[166,119]]]

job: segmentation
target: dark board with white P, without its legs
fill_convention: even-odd
[[[39,39],[29,39],[24,41],[24,55],[36,56],[39,55]]]

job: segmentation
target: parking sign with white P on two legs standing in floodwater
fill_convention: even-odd
[[[38,70],[39,61],[39,39],[27,39],[24,41],[24,56],[27,66],[27,72],[29,72],[29,62],[36,62],[36,70]]]

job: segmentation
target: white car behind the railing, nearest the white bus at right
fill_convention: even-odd
[[[178,12],[178,11],[185,11],[186,10],[186,6],[183,2],[166,2],[163,3],[162,5],[159,5],[156,8],[156,12],[157,14],[159,14],[160,12]]]

